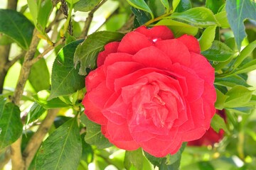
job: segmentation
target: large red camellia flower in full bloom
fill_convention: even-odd
[[[214,69],[193,36],[141,26],[105,45],[97,66],[85,79],[82,104],[117,147],[164,157],[210,127]]]

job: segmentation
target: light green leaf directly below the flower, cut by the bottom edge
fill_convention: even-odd
[[[143,169],[142,149],[139,148],[134,151],[126,151],[124,156],[124,166],[126,169],[130,169],[132,166],[136,169]]]

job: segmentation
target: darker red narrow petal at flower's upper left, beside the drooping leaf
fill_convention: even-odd
[[[110,42],[107,45],[105,45],[105,50],[100,52],[97,57],[97,66],[100,67],[104,63],[107,55],[109,55],[110,53],[117,52],[118,46],[119,42]]]

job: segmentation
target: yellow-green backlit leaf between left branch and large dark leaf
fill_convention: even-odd
[[[33,64],[28,80],[36,91],[49,89],[50,73],[44,58]]]

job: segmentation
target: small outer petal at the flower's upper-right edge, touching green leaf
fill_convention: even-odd
[[[177,38],[177,40],[182,42],[183,45],[186,45],[190,52],[196,52],[197,54],[200,54],[199,42],[192,35],[182,35],[180,38]]]

